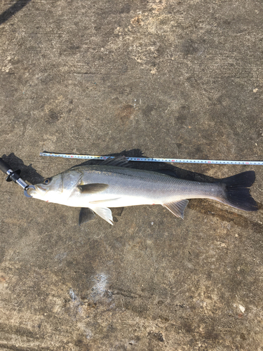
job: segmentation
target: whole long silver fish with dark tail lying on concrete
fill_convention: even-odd
[[[74,166],[27,190],[35,198],[80,207],[79,225],[95,214],[113,225],[110,207],[162,205],[184,218],[188,199],[212,199],[243,211],[257,211],[250,194],[255,172],[245,171],[213,183],[178,178],[173,171],[130,168],[124,156],[97,165]]]

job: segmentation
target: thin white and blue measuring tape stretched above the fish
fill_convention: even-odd
[[[114,159],[113,156],[93,156],[86,154],[58,154],[56,152],[40,152],[39,156],[64,157],[67,159]],[[262,166],[263,161],[227,161],[215,159],[159,159],[156,157],[126,157],[128,161],[140,162],[172,162],[179,164],[247,164]]]

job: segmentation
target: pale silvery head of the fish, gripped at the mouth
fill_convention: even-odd
[[[34,199],[39,199],[48,202],[58,202],[56,201],[60,194],[63,192],[62,184],[62,174],[46,178],[43,183],[34,185],[33,188],[29,188],[27,193],[34,197]]]

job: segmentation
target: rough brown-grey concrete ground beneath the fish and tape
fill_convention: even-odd
[[[2,0],[0,156],[33,184],[78,164],[43,150],[262,159],[262,18],[259,0]],[[1,350],[263,350],[262,166],[177,166],[255,170],[259,211],[79,227],[0,174]]]

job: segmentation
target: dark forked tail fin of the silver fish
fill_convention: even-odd
[[[243,211],[257,211],[257,202],[252,198],[249,190],[254,182],[254,171],[246,171],[219,180],[217,183],[223,184],[225,189],[224,199],[221,202]]]

